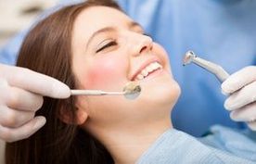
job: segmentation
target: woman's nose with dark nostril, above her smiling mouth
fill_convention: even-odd
[[[153,46],[152,38],[143,34],[136,34],[136,36],[132,38],[132,42],[130,50],[132,51],[131,53],[133,56],[147,53]]]

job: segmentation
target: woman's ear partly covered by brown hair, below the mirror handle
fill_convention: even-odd
[[[75,120],[73,120],[71,112],[67,112],[64,108],[60,109],[59,119],[67,124],[81,125],[87,120],[87,118],[88,114],[83,107],[76,107]]]

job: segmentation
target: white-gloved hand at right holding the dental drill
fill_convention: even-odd
[[[230,75],[223,82],[222,90],[229,95],[224,107],[230,110],[230,117],[246,121],[256,131],[256,66],[249,66]]]

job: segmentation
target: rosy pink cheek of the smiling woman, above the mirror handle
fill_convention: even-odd
[[[84,72],[83,84],[87,89],[112,89],[125,77],[124,63],[118,58],[96,59]]]

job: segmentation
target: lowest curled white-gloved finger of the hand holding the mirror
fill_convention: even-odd
[[[38,116],[19,128],[6,128],[0,126],[0,138],[9,143],[28,138],[34,132],[42,128],[45,125],[45,122],[45,117]]]

